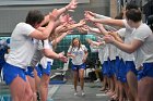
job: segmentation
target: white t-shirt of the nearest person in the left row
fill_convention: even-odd
[[[26,23],[19,23],[15,26],[11,35],[10,53],[7,59],[8,63],[21,68],[27,67],[35,50],[34,42],[30,37],[30,34],[34,30],[35,28]]]

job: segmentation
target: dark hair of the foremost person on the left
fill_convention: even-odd
[[[42,23],[43,20],[44,20],[44,15],[42,14],[40,11],[32,10],[28,12],[25,23],[27,23],[34,27],[35,24]]]

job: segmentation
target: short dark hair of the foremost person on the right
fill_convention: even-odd
[[[131,20],[134,23],[140,22],[142,20],[142,13],[140,10],[131,9],[126,12],[127,20]]]

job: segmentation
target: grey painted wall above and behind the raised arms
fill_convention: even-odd
[[[63,5],[66,4],[0,5],[0,36],[10,36],[15,25],[19,22],[25,21],[26,14],[30,10],[38,9],[46,14],[52,9],[62,8]],[[85,10],[92,10],[96,13],[109,15],[109,0],[90,0],[90,3],[81,3],[71,15],[75,21],[79,21],[84,17],[83,13]]]

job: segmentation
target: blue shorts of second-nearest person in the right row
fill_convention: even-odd
[[[126,61],[126,68],[127,68],[127,73],[131,71],[137,75],[137,70],[133,61]]]

